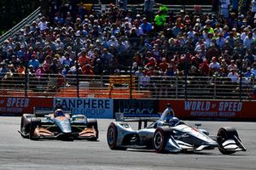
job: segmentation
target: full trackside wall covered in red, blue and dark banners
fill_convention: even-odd
[[[95,98],[20,98],[1,97],[0,116],[33,113],[35,107],[53,107],[61,99],[63,108],[73,108],[94,118],[126,116],[160,116],[170,103],[175,116],[184,120],[256,121],[255,101],[198,99],[95,99]]]

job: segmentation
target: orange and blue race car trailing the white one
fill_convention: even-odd
[[[19,133],[26,139],[98,139],[96,119],[72,115],[58,109],[48,114],[24,114]]]

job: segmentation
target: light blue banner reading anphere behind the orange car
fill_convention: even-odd
[[[63,110],[83,114],[89,118],[113,118],[113,99],[55,98],[61,100]]]

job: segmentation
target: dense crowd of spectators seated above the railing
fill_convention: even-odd
[[[254,2],[254,1],[253,1]],[[0,78],[28,70],[44,74],[230,77],[256,74],[255,4],[244,14],[172,13],[162,4],[150,14],[116,4],[101,14],[78,4],[38,15],[0,47]],[[240,71],[240,72],[239,72]],[[239,74],[238,74],[239,73]],[[57,86],[57,82],[53,86]]]

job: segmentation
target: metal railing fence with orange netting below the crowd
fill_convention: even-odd
[[[131,81],[128,81],[131,78]],[[118,81],[113,83],[113,79]],[[85,97],[119,99],[250,99],[255,78],[231,82],[228,77],[142,77],[29,74],[7,75],[1,80],[0,96]],[[78,81],[79,80],[79,81]],[[120,81],[122,80],[122,81]],[[124,80],[124,81],[123,81]],[[130,84],[131,83],[131,84]]]

